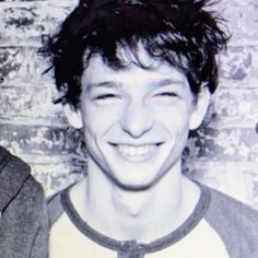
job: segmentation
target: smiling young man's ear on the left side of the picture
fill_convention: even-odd
[[[80,108],[75,108],[71,104],[63,104],[62,108],[69,124],[75,129],[81,129],[83,122]]]

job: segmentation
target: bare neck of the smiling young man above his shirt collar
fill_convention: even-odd
[[[145,190],[132,191],[110,183],[89,163],[89,176],[71,191],[81,216],[104,235],[149,243],[178,227],[199,199],[198,187],[181,175],[178,162],[173,171]]]

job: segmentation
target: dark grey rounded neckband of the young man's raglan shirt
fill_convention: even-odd
[[[69,216],[69,219],[71,220],[71,222],[82,234],[87,236],[93,242],[108,249],[117,250],[118,253],[127,254],[136,251],[136,253],[146,254],[164,249],[175,244],[176,242],[180,241],[184,236],[186,236],[189,232],[191,232],[195,228],[195,226],[201,221],[201,219],[204,216],[209,208],[211,200],[211,192],[208,187],[201,184],[198,184],[198,186],[200,187],[200,198],[195,207],[195,210],[188,216],[188,219],[175,231],[148,244],[137,243],[136,241],[117,241],[94,230],[80,216],[74,206],[72,204],[69,196],[71,187],[63,190],[60,197],[61,197],[62,208],[67,213],[67,215]],[[133,257],[133,256],[128,256],[128,257]],[[142,257],[142,256],[134,255],[134,257]]]

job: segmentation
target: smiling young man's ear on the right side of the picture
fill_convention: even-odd
[[[196,130],[204,119],[207,110],[210,105],[211,93],[208,86],[202,85],[200,92],[197,95],[194,110],[190,117],[189,129]]]

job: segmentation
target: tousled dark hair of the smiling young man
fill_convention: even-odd
[[[138,44],[154,59],[166,61],[187,77],[194,94],[206,83],[218,86],[215,55],[225,48],[223,19],[209,0],[80,0],[49,37],[45,54],[51,57],[56,85],[66,89],[57,102],[78,107],[81,75],[94,54],[113,69],[125,69],[118,48],[132,54],[132,62],[150,69],[138,57]]]

